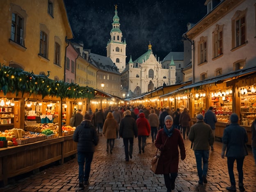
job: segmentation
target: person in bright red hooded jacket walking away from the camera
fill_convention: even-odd
[[[141,151],[144,153],[146,137],[150,134],[149,121],[145,118],[144,113],[139,113],[139,118],[136,120],[136,123],[138,127],[139,153],[141,153]]]

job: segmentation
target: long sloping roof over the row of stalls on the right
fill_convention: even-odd
[[[240,70],[234,71],[234,72],[229,73],[229,74],[220,75],[220,76],[217,76],[215,78],[211,78],[211,79],[199,81],[199,82],[196,82],[196,83],[193,83],[193,84],[190,84],[190,85],[186,85],[186,86],[183,86],[183,87],[177,89],[177,91],[181,91],[181,90],[189,89],[189,88],[193,88],[193,87],[198,87],[198,86],[201,86],[201,85],[207,85],[207,84],[211,84],[211,83],[219,84],[219,83],[226,82],[226,81],[231,81],[231,80],[234,80],[234,79],[237,79],[237,78],[240,78],[242,76],[249,75],[249,74],[252,74],[252,73],[256,73],[256,66],[252,66],[252,67],[249,67],[249,68],[246,68],[246,69],[240,69]],[[171,93],[169,93],[169,94],[171,94]]]

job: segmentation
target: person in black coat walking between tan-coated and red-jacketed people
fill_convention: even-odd
[[[133,139],[138,136],[138,128],[130,110],[126,110],[124,113],[125,117],[121,120],[119,126],[119,136],[123,138],[125,159],[129,161],[129,156],[133,158]],[[130,147],[128,147],[128,142],[130,142]]]

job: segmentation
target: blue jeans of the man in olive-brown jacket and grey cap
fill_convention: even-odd
[[[194,154],[196,156],[196,162],[197,162],[197,174],[199,177],[198,183],[203,184],[202,176],[206,176],[208,171],[209,150],[195,150]],[[203,160],[203,169],[202,169],[202,160]]]

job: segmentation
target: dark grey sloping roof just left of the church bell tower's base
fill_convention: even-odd
[[[101,69],[103,71],[107,71],[110,73],[115,73],[117,75],[121,74],[117,66],[110,59],[110,57],[105,57],[105,56],[97,55],[94,53],[89,53],[89,57],[91,59],[90,62],[95,64],[98,67],[98,69]]]

